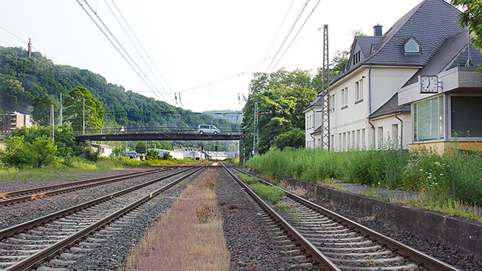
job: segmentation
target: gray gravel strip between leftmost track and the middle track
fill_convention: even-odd
[[[35,201],[2,206],[0,208],[0,229],[5,229],[35,218],[39,218],[41,216],[94,200],[101,196],[105,196],[107,194],[114,193],[119,190],[126,189],[149,180],[154,180],[155,178],[181,170],[183,169],[163,171],[153,175],[141,176],[106,185],[75,190],[65,194],[52,195]],[[97,177],[100,176],[102,175],[97,175]]]

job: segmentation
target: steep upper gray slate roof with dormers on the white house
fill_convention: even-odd
[[[444,0],[423,0],[383,36],[355,37],[348,71],[335,77],[332,83],[362,64],[425,66],[447,38],[463,30],[458,23],[460,12]],[[410,38],[420,43],[421,53],[404,53],[403,45]],[[374,51],[370,51],[372,46]],[[363,52],[361,61],[352,65],[352,57],[358,50]]]

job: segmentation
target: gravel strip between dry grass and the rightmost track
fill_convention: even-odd
[[[231,252],[231,270],[292,270],[282,255],[273,249],[264,223],[259,221],[251,198],[220,168],[216,185],[223,231]]]

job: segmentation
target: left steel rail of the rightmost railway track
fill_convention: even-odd
[[[264,210],[266,210],[281,226],[303,247],[313,259],[320,264],[320,266],[329,271],[341,271],[330,259],[328,259],[323,253],[321,253],[311,242],[304,238],[295,228],[293,228],[286,220],[284,220],[276,211],[274,211],[269,205],[267,205],[256,193],[254,193],[249,186],[244,184],[238,176],[231,172],[224,163],[221,163],[223,168],[238,182],[239,185],[251,196]]]

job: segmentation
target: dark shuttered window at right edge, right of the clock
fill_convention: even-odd
[[[482,137],[482,96],[451,96],[451,131],[459,138]]]

